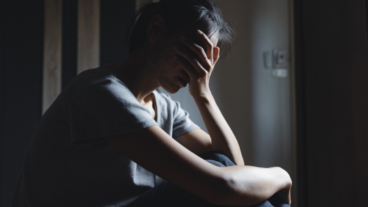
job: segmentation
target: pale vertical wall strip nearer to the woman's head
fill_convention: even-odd
[[[100,0],[79,0],[77,74],[99,66]]]

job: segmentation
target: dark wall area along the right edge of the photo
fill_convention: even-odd
[[[364,1],[295,1],[299,206],[367,206]]]

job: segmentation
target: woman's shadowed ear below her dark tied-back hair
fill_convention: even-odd
[[[155,15],[148,24],[148,40],[155,43],[166,32],[166,24],[162,15]]]

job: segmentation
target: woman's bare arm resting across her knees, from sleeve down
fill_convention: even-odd
[[[105,137],[141,167],[214,204],[250,206],[291,186],[279,167],[217,167],[176,142],[159,126]]]

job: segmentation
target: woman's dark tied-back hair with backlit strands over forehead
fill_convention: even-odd
[[[210,37],[218,32],[217,47],[220,47],[222,54],[229,53],[234,33],[222,17],[220,8],[212,0],[161,0],[141,7],[128,29],[130,53],[143,46],[148,24],[155,15],[164,17],[169,33],[185,33],[199,28]]]

